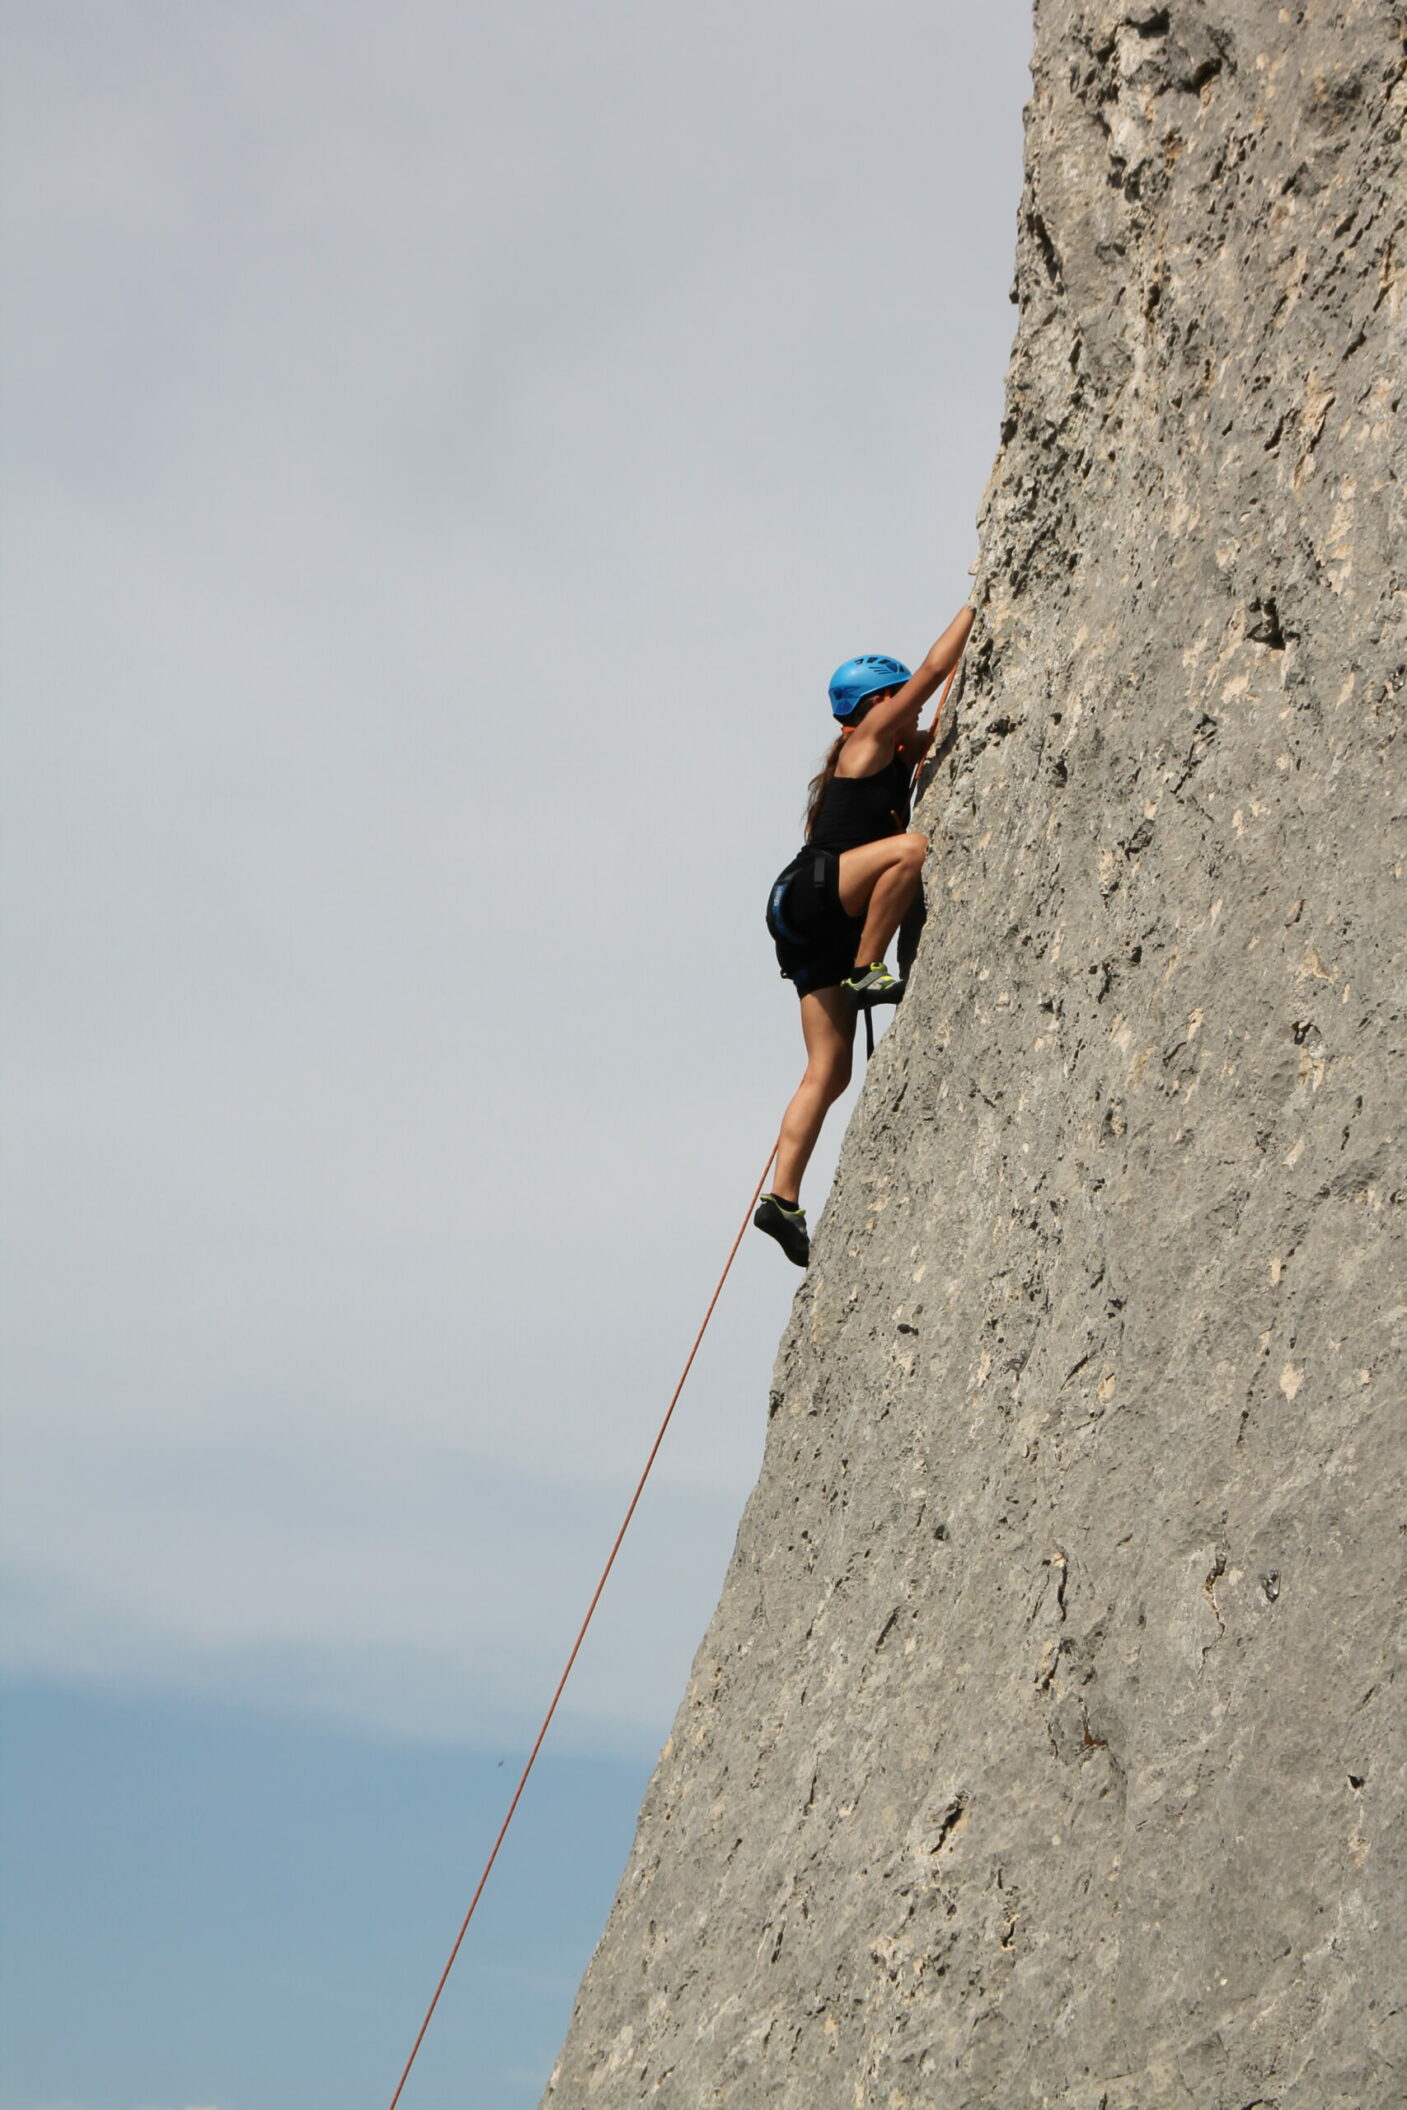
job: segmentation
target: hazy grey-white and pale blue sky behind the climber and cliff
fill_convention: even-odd
[[[306,2110],[333,1977],[371,2038],[375,1929],[458,1924],[795,1082],[762,905],[827,675],[920,654],[966,593],[1029,21],[2,21],[6,1810],[42,1939],[0,2110]],[[534,2102],[561,2034],[793,1287],[749,1239],[525,1806],[529,1859],[567,1808],[610,1850],[561,1869],[570,1956],[485,2110]],[[211,1785],[226,1730],[262,1804],[232,1762]],[[65,1737],[93,1853],[55,1893]],[[407,1798],[483,1838],[390,1910]],[[289,1937],[310,2004],[264,2009],[289,1806],[363,1888]],[[230,1876],[232,1948],[171,2068],[188,1861]],[[532,1973],[510,1891],[454,1998],[489,1956]],[[388,2095],[411,1979],[327,2102]]]

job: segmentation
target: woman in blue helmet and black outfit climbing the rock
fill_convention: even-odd
[[[882,652],[835,669],[840,736],[810,785],[806,846],[768,901],[776,960],[802,998],[806,1076],[783,1116],[776,1186],[753,1224],[797,1268],[810,1260],[802,1173],[827,1108],[850,1082],[856,1015],[863,1004],[903,996],[884,954],[918,893],[928,848],[928,838],[909,829],[909,783],[932,738],[918,730],[918,713],[962,658],[970,629],[972,610],[964,608],[918,673]]]

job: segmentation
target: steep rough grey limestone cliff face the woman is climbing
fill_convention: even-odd
[[[553,2110],[1407,2097],[1403,23],[1034,78],[928,922]]]

